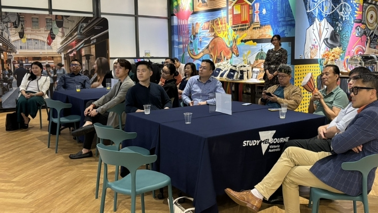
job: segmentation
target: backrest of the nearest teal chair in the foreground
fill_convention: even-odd
[[[144,156],[139,153],[117,151],[115,146],[106,146],[101,143],[97,144],[97,148],[102,162],[109,165],[124,166],[132,174],[135,174],[140,166],[153,163],[157,159],[156,155]]]

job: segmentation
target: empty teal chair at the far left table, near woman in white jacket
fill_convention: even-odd
[[[47,139],[47,148],[50,148],[50,135],[51,135],[51,123],[54,122],[57,124],[56,128],[56,142],[55,142],[55,153],[58,153],[58,140],[59,140],[59,127],[61,124],[68,124],[68,123],[74,123],[75,129],[76,128],[76,122],[80,121],[80,115],[68,115],[65,117],[60,117],[60,111],[65,108],[71,108],[72,104],[65,104],[60,101],[54,101],[51,99],[46,99],[46,107],[50,108],[50,123],[49,123],[49,137]],[[53,118],[53,110],[56,109],[58,113],[57,118]],[[78,137],[76,137],[77,141],[79,142]]]

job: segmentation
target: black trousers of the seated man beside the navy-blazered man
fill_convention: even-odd
[[[319,153],[320,151],[331,152],[331,139],[318,139],[317,137],[301,140],[289,140],[282,148],[282,152],[289,146],[301,147]]]

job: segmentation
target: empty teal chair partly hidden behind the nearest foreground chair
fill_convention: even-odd
[[[143,147],[139,147],[139,146],[127,146],[127,147],[122,148],[121,150],[119,149],[119,146],[122,143],[122,141],[136,138],[135,132],[128,133],[123,130],[109,128],[109,126],[104,126],[99,123],[95,123],[93,126],[94,126],[94,129],[96,130],[97,137],[100,139],[99,144],[104,144],[104,139],[108,139],[114,143],[114,146],[116,147],[115,150],[117,151],[135,152],[135,153],[140,153],[146,156],[150,155],[150,150],[145,149]],[[96,199],[98,198],[98,188],[99,188],[99,182],[100,182],[101,163],[102,163],[101,159],[102,158],[100,155],[100,157],[98,158],[98,166],[97,166],[97,181],[96,181],[96,194],[95,194]],[[119,167],[117,166],[115,180],[118,180],[118,173],[119,173]],[[153,194],[153,197],[155,197],[154,191],[152,192],[152,194]],[[114,193],[114,210],[116,209],[116,204],[117,204],[117,192]]]

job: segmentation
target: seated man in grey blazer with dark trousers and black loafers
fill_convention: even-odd
[[[97,101],[88,101],[86,109],[84,110],[85,124],[72,132],[73,136],[84,135],[83,149],[77,154],[71,154],[71,159],[89,158],[92,157],[92,141],[94,138],[93,123],[100,123],[102,125],[112,125],[116,127],[118,122],[118,115],[116,113],[107,112],[108,109],[125,101],[127,90],[134,85],[134,82],[128,76],[131,71],[131,64],[125,59],[119,59],[116,65],[116,76],[119,81],[112,87],[110,92],[102,96]],[[122,121],[125,123],[126,114],[122,114]]]

